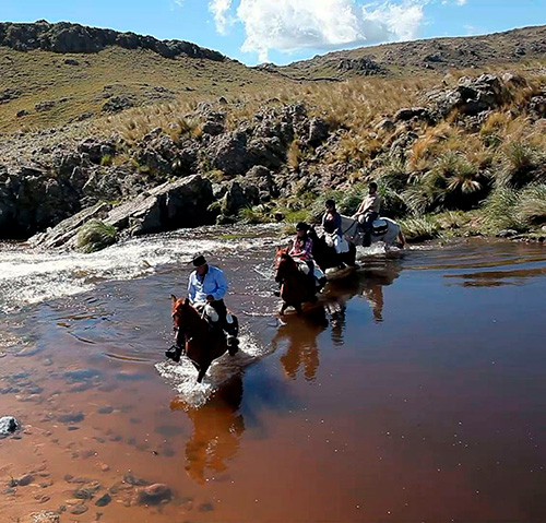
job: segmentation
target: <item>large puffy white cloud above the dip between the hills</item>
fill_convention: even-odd
[[[366,0],[364,0],[366,1]],[[339,49],[418,36],[429,3],[467,0],[209,0],[216,29],[245,27],[242,50],[268,61],[272,49]]]

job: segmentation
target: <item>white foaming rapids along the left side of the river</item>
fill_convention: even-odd
[[[0,312],[92,290],[99,282],[150,275],[197,252],[232,252],[263,239],[203,238],[207,230],[134,238],[92,254],[0,246]],[[217,235],[217,230],[216,230]]]

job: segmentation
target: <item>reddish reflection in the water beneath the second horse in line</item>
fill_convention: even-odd
[[[300,368],[307,381],[313,381],[320,365],[317,336],[328,328],[327,310],[317,305],[307,309],[302,317],[289,316],[272,340],[274,350],[286,340],[288,347],[281,356],[284,372],[295,380]]]

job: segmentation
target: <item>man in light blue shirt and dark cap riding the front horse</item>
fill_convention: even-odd
[[[188,282],[188,297],[195,309],[203,311],[213,326],[224,330],[228,347],[236,347],[237,325],[226,308],[224,296],[229,285],[224,272],[206,263],[202,254],[193,258],[195,270],[190,274]]]

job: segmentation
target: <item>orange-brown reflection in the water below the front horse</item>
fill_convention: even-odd
[[[242,377],[236,376],[222,387],[201,408],[188,408],[180,399],[170,403],[173,411],[186,411],[193,433],[186,443],[186,471],[197,483],[205,483],[207,471],[222,473],[235,457],[245,431],[240,413]]]

